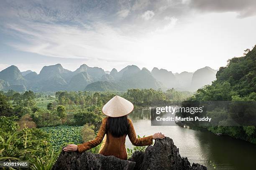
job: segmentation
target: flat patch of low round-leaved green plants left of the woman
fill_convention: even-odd
[[[40,128],[50,135],[49,143],[54,150],[61,150],[66,144],[82,143],[82,126],[57,126]]]

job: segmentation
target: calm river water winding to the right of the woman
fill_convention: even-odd
[[[129,114],[136,134],[153,135],[161,132],[173,139],[179,153],[190,163],[200,163],[216,170],[256,170],[256,145],[228,136],[216,136],[206,130],[192,130],[179,126],[151,126],[150,108],[134,110]],[[131,148],[127,138],[126,146]]]

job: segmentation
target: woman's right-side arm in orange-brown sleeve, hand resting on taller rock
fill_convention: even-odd
[[[145,137],[145,138],[137,138],[135,130],[133,128],[133,123],[128,119],[129,130],[128,137],[131,140],[131,143],[135,146],[147,146],[152,145],[153,139],[164,139],[165,136],[161,133],[155,133],[154,135]]]

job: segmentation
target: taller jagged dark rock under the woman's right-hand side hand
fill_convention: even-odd
[[[190,166],[187,158],[179,155],[179,148],[168,137],[157,139],[154,146],[146,148],[145,153],[135,152],[129,160],[136,162],[134,170],[207,170],[199,164]]]

